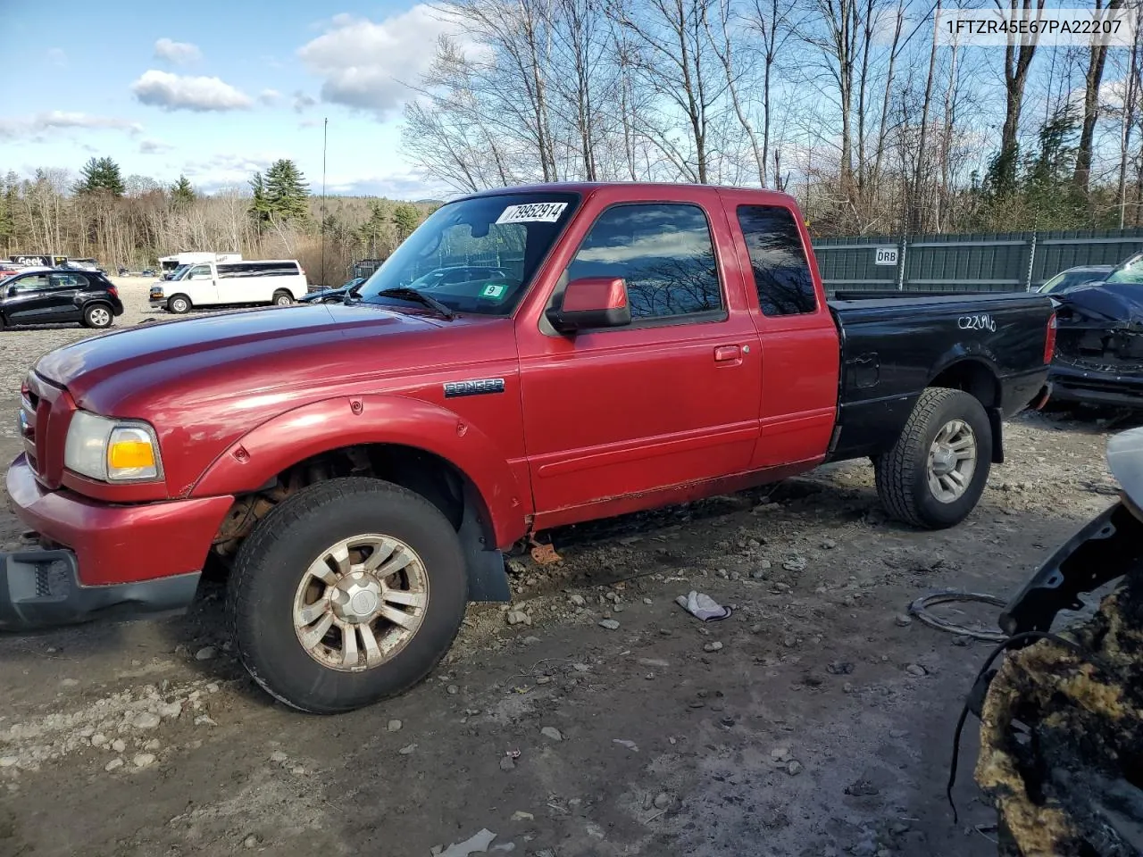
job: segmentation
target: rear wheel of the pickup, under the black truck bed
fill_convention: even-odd
[[[877,494],[897,520],[944,529],[976,507],[991,465],[992,425],[976,397],[929,387],[893,449],[873,462]]]

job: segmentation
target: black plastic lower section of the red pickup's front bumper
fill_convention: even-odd
[[[194,599],[200,576],[195,571],[157,580],[85,586],[72,551],[0,554],[0,631],[183,610]]]

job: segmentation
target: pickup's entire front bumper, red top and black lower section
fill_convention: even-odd
[[[189,602],[233,503],[221,496],[115,505],[49,491],[25,456],[8,468],[7,488],[13,512],[48,550],[2,555],[0,627],[26,626],[11,625],[13,616],[75,622],[120,606],[145,612]]]

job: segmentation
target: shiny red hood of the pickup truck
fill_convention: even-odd
[[[251,397],[270,397],[285,410],[338,382],[369,379],[383,390],[426,367],[471,362],[474,353],[502,357],[514,343],[511,322],[509,341],[493,331],[505,321],[443,321],[368,304],[271,307],[117,330],[46,354],[35,371],[66,387],[79,407],[110,416],[161,419],[198,405],[217,413]],[[464,339],[475,342],[457,342]]]

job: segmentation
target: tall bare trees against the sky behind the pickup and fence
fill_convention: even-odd
[[[1034,17],[1045,0],[999,6]],[[461,191],[568,179],[764,186],[798,197],[824,235],[1143,223],[1137,42],[938,45],[940,1],[438,8],[464,38],[438,43],[403,142]],[[1140,3],[1130,14],[1143,24]]]

